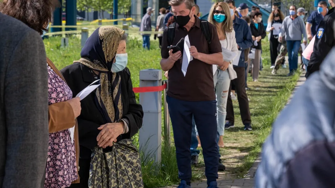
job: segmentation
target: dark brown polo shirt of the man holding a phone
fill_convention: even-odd
[[[189,36],[191,46],[195,46],[200,53],[212,54],[222,52],[221,44],[214,25],[208,23],[211,43],[208,44],[200,26],[200,19],[195,16],[193,27],[187,31],[185,27],[176,24],[175,38],[172,45],[186,35]],[[169,57],[167,28],[162,39],[161,56]],[[183,52],[182,52],[183,53]],[[212,65],[193,58],[190,61],[186,76],[182,72],[182,58],[177,60],[169,70],[167,95],[183,101],[212,101],[215,100]]]

